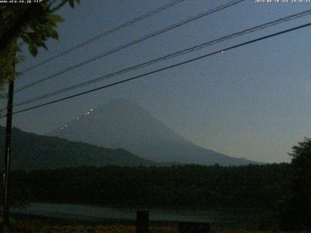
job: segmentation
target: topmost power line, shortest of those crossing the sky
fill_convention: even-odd
[[[102,38],[102,37],[104,37],[104,36],[106,36],[106,35],[108,35],[110,33],[116,32],[116,31],[118,31],[118,30],[120,30],[122,28],[125,28],[125,27],[127,27],[127,26],[129,26],[129,25],[131,25],[133,23],[136,23],[136,22],[138,22],[138,21],[140,21],[142,19],[145,19],[147,17],[155,15],[156,13],[159,13],[160,11],[163,11],[163,10],[165,10],[165,9],[171,7],[171,6],[174,6],[174,5],[176,5],[176,4],[178,4],[178,3],[182,2],[182,1],[184,1],[184,0],[175,0],[175,1],[171,2],[171,3],[169,3],[169,4],[166,4],[164,6],[161,6],[161,7],[157,8],[157,9],[155,9],[154,11],[148,12],[148,13],[140,16],[140,17],[134,18],[133,20],[130,20],[130,21],[126,22],[126,23],[123,23],[123,24],[121,24],[121,25],[119,25],[119,26],[117,26],[117,27],[115,27],[115,28],[113,28],[111,30],[108,30],[108,31],[106,31],[104,33],[101,33],[101,34],[99,34],[99,35],[97,35],[97,36],[95,36],[95,37],[93,37],[91,39],[88,39],[88,40],[86,40],[86,41],[84,41],[84,42],[82,42],[82,43],[80,43],[80,44],[78,44],[78,45],[68,49],[68,50],[64,50],[64,51],[62,51],[62,52],[60,52],[60,53],[58,53],[58,54],[56,54],[56,55],[54,55],[54,56],[44,60],[42,62],[39,62],[38,64],[36,64],[34,66],[28,67],[27,69],[23,70],[21,73],[24,74],[24,73],[26,73],[29,70],[35,69],[36,67],[40,67],[43,64],[46,64],[46,63],[48,63],[48,62],[50,62],[50,61],[52,61],[52,60],[54,60],[54,59],[56,59],[58,57],[61,57],[61,56],[65,55],[65,54],[67,54],[67,53],[69,53],[69,52],[71,52],[73,50],[79,49],[79,48],[81,48],[81,47],[83,47],[83,46],[85,46],[85,45],[87,45],[87,44],[89,44],[89,43],[91,43],[91,42],[93,42],[93,41],[95,41],[95,40],[97,40],[99,38]]]

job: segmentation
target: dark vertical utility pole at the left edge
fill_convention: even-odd
[[[15,59],[14,59],[15,60]],[[5,156],[4,156],[4,173],[3,173],[3,229],[2,233],[9,232],[9,173],[11,159],[11,136],[12,136],[12,110],[13,110],[13,93],[14,93],[14,61],[13,77],[9,81],[8,105],[6,114],[6,132],[5,132]]]

